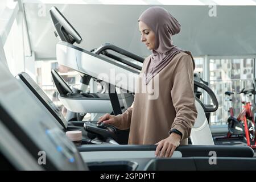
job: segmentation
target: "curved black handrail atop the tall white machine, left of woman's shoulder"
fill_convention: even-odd
[[[114,46],[113,44],[104,44],[101,47],[97,48],[94,53],[97,55],[100,55],[100,53],[106,51],[106,50],[112,50],[114,52],[120,53],[121,55],[130,57],[131,59],[134,59],[136,61],[139,61],[140,63],[143,63],[144,58],[138,55],[135,55],[134,53],[131,53],[129,51],[126,51],[125,49],[119,48],[117,46]]]

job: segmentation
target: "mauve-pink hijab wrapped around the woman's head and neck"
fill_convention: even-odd
[[[191,52],[183,51],[172,44],[172,35],[180,32],[180,23],[166,9],[162,7],[150,7],[139,17],[139,21],[147,24],[155,33],[155,48],[152,49],[150,63],[143,77],[144,84],[159,73],[180,52],[188,53],[193,60]],[[193,60],[193,69],[195,63]]]

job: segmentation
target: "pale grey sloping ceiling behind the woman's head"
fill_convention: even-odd
[[[36,60],[55,59],[59,41],[53,34],[49,9],[56,6],[81,35],[84,49],[104,43],[147,56],[140,42],[138,17],[150,5],[88,5],[24,3],[28,34]],[[174,44],[200,55],[255,55],[256,6],[163,6],[180,22]]]

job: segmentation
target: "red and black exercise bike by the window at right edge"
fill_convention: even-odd
[[[232,138],[236,135],[237,137],[245,137],[247,146],[251,148],[256,148],[255,142],[255,121],[254,116],[251,111],[250,98],[253,94],[256,94],[254,89],[245,89],[243,88],[238,94],[245,96],[246,100],[242,101],[243,109],[238,114],[238,117],[234,117],[233,107],[230,105],[229,113],[230,117],[228,118],[228,134],[227,138]],[[228,96],[228,101],[232,102],[233,92],[225,92],[225,95]]]

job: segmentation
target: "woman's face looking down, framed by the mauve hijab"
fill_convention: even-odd
[[[139,31],[141,32],[141,42],[143,42],[148,49],[155,48],[155,33],[144,22],[139,21]]]

